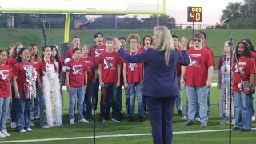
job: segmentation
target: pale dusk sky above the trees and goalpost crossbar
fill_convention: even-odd
[[[47,7],[47,8],[96,8],[122,10],[157,10],[158,0],[0,0],[0,7]],[[173,16],[178,24],[186,24],[188,6],[202,7],[201,24],[214,25],[220,22],[222,10],[229,2],[243,2],[243,0],[166,0],[166,12]],[[159,10],[162,10],[162,0],[159,0]],[[146,15],[138,15],[138,18]]]

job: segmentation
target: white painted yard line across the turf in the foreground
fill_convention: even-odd
[[[256,128],[252,128],[256,130]],[[229,129],[223,130],[198,130],[198,131],[178,131],[174,134],[198,134],[198,133],[213,133],[229,131]],[[98,135],[96,138],[117,138],[117,137],[138,137],[138,136],[150,136],[151,134],[115,134],[115,135]],[[90,139],[94,138],[93,136],[88,137],[74,137],[74,138],[45,138],[45,139],[30,139],[30,140],[15,140],[15,141],[0,141],[0,143],[18,143],[18,142],[47,142],[47,141],[63,141],[63,140],[72,140],[72,139]]]

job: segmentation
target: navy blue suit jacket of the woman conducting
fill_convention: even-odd
[[[157,51],[152,48],[141,54],[130,55],[125,49],[118,50],[118,54],[126,62],[144,62],[143,96],[151,97],[174,97],[179,95],[176,64],[187,66],[190,64],[189,55],[186,50],[182,54],[177,49],[170,52],[170,66],[165,62],[165,51]]]

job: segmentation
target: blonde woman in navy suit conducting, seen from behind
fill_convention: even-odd
[[[179,94],[176,64],[189,65],[190,58],[186,50],[182,54],[174,49],[172,35],[165,26],[154,28],[154,48],[142,54],[130,55],[121,46],[117,38],[118,54],[126,62],[144,62],[144,80],[142,95],[146,98],[150,114],[154,144],[172,142],[172,120],[176,97]]]

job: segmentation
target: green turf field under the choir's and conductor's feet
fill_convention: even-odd
[[[229,126],[220,126],[218,121],[221,118],[218,115],[218,94],[219,90],[213,88],[211,90],[211,114],[208,127],[206,129],[199,128],[200,123],[196,122],[193,126],[182,126],[181,118],[174,114],[174,132],[179,131],[196,131],[196,130],[222,130],[228,129]],[[28,139],[42,139],[42,138],[74,138],[74,137],[87,137],[93,135],[93,122],[86,124],[76,122],[73,126],[69,124],[68,118],[68,95],[65,91],[65,104],[63,110],[63,125],[62,127],[54,127],[50,129],[39,128],[39,120],[35,120],[34,123],[36,126],[33,126],[34,132],[20,134],[13,129],[10,129],[10,123],[7,124],[7,130],[10,132],[11,136],[9,138],[1,138],[1,141],[11,141],[11,140],[28,140]],[[124,98],[124,96],[123,96]],[[184,90],[182,90],[182,103],[185,103]],[[124,99],[123,99],[124,101]],[[124,102],[123,102],[124,103]],[[183,106],[184,107],[184,106]],[[122,111],[125,111],[125,105],[122,106]],[[99,113],[99,112],[98,112]],[[137,110],[135,111],[138,114]],[[124,114],[124,113],[123,113]],[[126,115],[126,114],[124,114]],[[98,120],[98,114],[97,114]],[[253,123],[253,126],[256,125],[256,122]],[[150,121],[146,116],[145,122],[127,122],[123,120],[122,122],[111,122],[106,121],[105,123],[96,122],[96,135],[115,135],[115,134],[150,134]],[[187,143],[228,143],[229,132],[210,132],[210,133],[199,133],[199,134],[174,134],[174,143],[178,144],[187,144]],[[250,132],[232,132],[232,143],[254,143],[256,141],[256,130]],[[96,138],[97,143],[104,144],[128,144],[128,143],[152,143],[151,136],[136,136],[136,137],[118,137],[118,138]],[[30,142],[35,143],[35,142]],[[76,139],[76,140],[65,140],[65,141],[49,141],[49,142],[36,142],[36,143],[93,143],[93,139]]]

